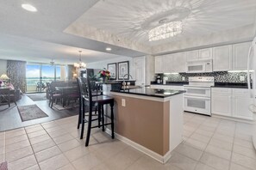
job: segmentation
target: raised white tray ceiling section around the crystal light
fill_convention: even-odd
[[[171,39],[149,42],[147,33],[153,28],[150,23],[165,18],[168,12],[172,14],[175,8],[190,8],[190,15],[182,20],[184,32]],[[247,26],[254,23],[255,16],[255,0],[104,0],[87,10],[77,22],[156,46]],[[171,17],[177,17],[177,13]]]

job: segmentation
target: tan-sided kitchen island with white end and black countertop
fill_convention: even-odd
[[[182,142],[183,93],[153,88],[111,90],[116,137],[165,163]]]

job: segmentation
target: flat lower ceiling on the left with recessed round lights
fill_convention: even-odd
[[[0,0],[0,58],[73,64],[82,50],[85,63],[123,56],[142,56],[128,48],[64,33],[64,29],[99,0]],[[38,12],[22,9],[31,3]],[[111,52],[106,52],[106,47]]]

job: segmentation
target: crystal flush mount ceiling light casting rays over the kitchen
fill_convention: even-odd
[[[159,27],[154,27],[148,32],[149,41],[155,41],[160,39],[168,39],[182,33],[183,25],[182,21],[172,21],[165,23],[167,20],[163,19],[159,21]]]

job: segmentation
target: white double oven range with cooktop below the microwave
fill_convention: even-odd
[[[211,115],[211,91],[214,77],[194,76],[189,78],[189,85],[184,85],[184,111]]]

